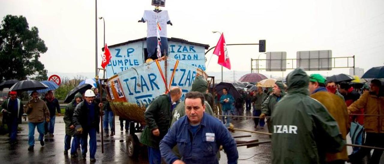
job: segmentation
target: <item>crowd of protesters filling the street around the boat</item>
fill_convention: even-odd
[[[182,90],[174,87],[169,93],[155,98],[148,105],[144,118],[146,126],[140,142],[147,146],[149,163],[218,163],[220,146],[227,153],[228,163],[237,163],[236,143],[227,128],[241,121],[244,113],[255,117],[255,130],[265,125],[272,138],[272,163],[345,163],[360,162],[368,156],[372,164],[379,163],[382,150],[354,148],[347,154],[346,136],[354,135],[355,126],[366,132],[360,144],[384,148],[384,94],[382,82],[373,79],[369,85],[356,89],[348,82],[326,80],[320,74],[307,75],[302,69],[288,74],[286,82],[276,81],[273,87],[239,89],[234,97],[228,88],[222,94],[209,92],[208,82],[196,77],[192,89],[180,102]],[[99,133],[100,115],[106,136],[114,136],[114,113],[106,92],[97,88],[77,93],[66,105],[64,114],[64,154],[81,156],[95,162],[96,133]],[[40,99],[31,92],[25,105],[17,92],[9,92],[3,101],[3,123],[8,127],[11,145],[17,143],[17,128],[22,118],[28,117],[28,151],[35,146],[35,128],[38,141],[45,145],[44,137],[54,137],[56,116],[61,116],[58,100],[52,91]],[[100,108],[103,113],[100,113]],[[57,113],[56,113],[57,112]],[[214,115],[222,116],[222,120]],[[240,116],[240,117],[231,117]],[[129,120],[119,118],[121,131],[129,130]],[[124,128],[124,122],[125,128]],[[133,127],[132,127],[133,128]],[[110,132],[110,133],[109,133]],[[353,140],[358,138],[351,137]],[[351,141],[355,143],[354,141]]]

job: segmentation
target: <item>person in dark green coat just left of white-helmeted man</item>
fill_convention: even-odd
[[[68,150],[71,148],[71,139],[74,135],[74,124],[72,121],[73,112],[81,101],[83,101],[83,96],[81,93],[76,93],[72,102],[70,102],[67,107],[65,107],[64,114],[64,123],[65,123],[65,137],[64,137],[64,154],[68,154]]]

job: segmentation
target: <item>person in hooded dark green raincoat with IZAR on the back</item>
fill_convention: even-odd
[[[287,76],[288,95],[270,120],[273,164],[325,163],[325,153],[339,152],[346,143],[327,109],[308,96],[308,82],[300,68]]]

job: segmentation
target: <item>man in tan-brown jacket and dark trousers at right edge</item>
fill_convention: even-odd
[[[348,113],[364,108],[366,115],[384,115],[384,94],[380,80],[371,81],[370,92],[363,93],[358,100],[348,107]],[[367,132],[364,145],[384,148],[384,116],[364,116],[364,128]],[[361,148],[353,158],[360,159],[371,152],[371,149]],[[382,150],[373,151],[370,164],[378,164]],[[352,161],[352,157],[351,157]]]

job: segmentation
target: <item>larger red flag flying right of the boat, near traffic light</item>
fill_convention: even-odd
[[[229,60],[227,44],[225,43],[224,34],[221,34],[213,54],[218,56],[217,64],[231,69],[231,62]]]

